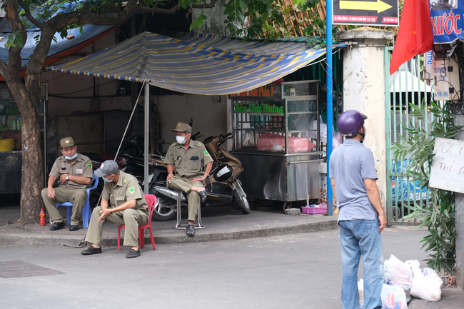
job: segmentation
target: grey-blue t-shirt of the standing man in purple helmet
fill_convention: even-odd
[[[335,179],[338,221],[375,220],[364,179],[378,179],[372,151],[351,138],[333,150],[329,161],[329,177]]]

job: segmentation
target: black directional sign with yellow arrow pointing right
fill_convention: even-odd
[[[398,0],[332,0],[332,23],[338,25],[398,26]]]

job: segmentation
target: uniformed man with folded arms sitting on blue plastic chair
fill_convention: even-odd
[[[45,208],[49,212],[53,223],[50,231],[64,228],[64,219],[56,209],[56,203],[73,203],[69,231],[79,230],[79,221],[82,216],[82,208],[86,203],[87,186],[92,181],[92,163],[90,159],[81,153],[77,153],[77,146],[71,136],[61,138],[61,154],[51,167],[47,187],[42,190],[42,198]],[[58,188],[54,183],[58,179]]]

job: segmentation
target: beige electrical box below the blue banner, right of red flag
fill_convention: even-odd
[[[460,101],[459,67],[454,59],[433,59],[433,96],[437,101]]]

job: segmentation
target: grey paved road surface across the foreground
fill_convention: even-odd
[[[385,258],[423,260],[425,234],[385,229]],[[115,247],[84,256],[58,245],[2,245],[0,308],[341,308],[339,246],[337,230],[158,244],[135,259]]]

